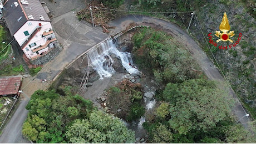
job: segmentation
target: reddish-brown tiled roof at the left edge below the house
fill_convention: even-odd
[[[18,93],[21,77],[0,78],[0,95],[14,95]]]

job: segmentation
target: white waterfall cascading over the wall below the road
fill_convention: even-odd
[[[132,64],[131,54],[128,52],[119,52],[116,48],[115,44],[112,44],[112,39],[107,39],[106,42],[102,42],[100,44],[100,48],[102,53],[99,54],[97,49],[92,49],[88,52],[88,59],[94,70],[100,75],[100,79],[103,77],[110,77],[112,73],[115,72],[112,64],[114,60],[112,60],[110,54],[115,54],[121,60],[122,66],[130,73],[130,74],[138,74],[139,70],[129,65]]]

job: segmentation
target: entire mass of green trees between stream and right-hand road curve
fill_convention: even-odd
[[[168,34],[141,29],[134,37],[135,63],[164,85],[154,114],[143,124],[152,143],[237,143],[255,137],[235,123],[227,85],[209,81],[191,55]],[[150,116],[149,116],[150,115]],[[238,131],[241,131],[239,133]]]

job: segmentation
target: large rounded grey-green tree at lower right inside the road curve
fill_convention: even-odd
[[[213,81],[196,79],[166,85],[163,97],[170,102],[171,128],[186,134],[207,131],[230,113],[233,102]]]

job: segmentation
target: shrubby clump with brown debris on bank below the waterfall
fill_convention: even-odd
[[[107,90],[107,95],[110,111],[115,116],[132,121],[144,115],[141,85],[125,79]]]

